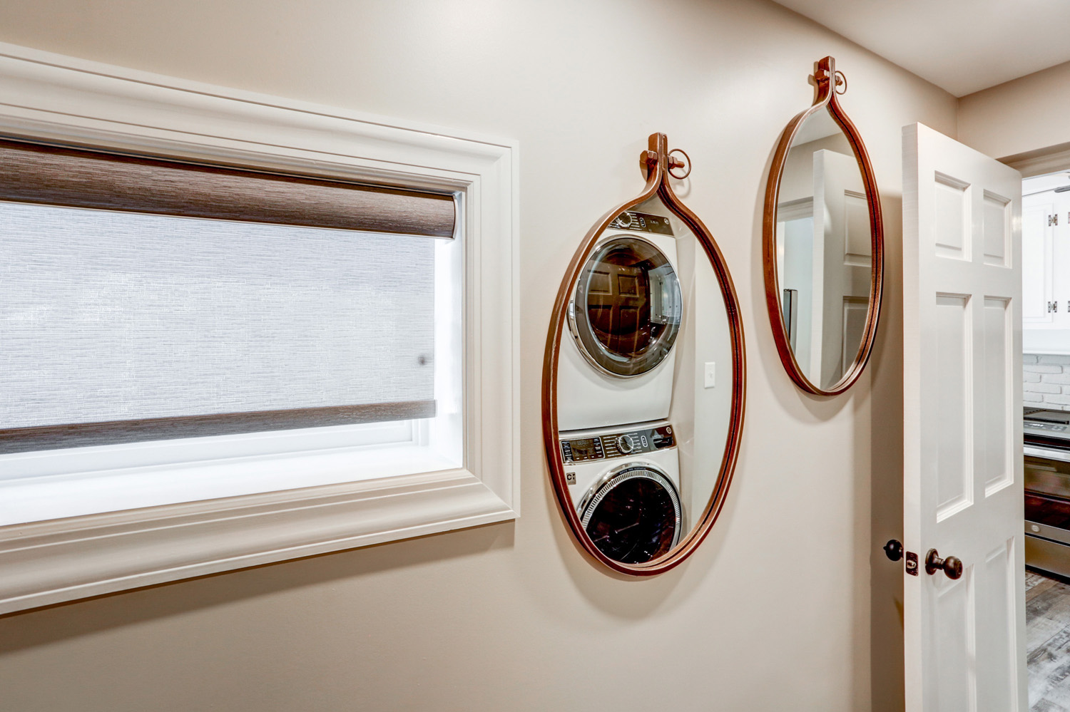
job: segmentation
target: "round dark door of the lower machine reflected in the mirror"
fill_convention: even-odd
[[[591,541],[614,561],[653,561],[679,541],[676,487],[651,465],[631,463],[611,470],[578,509]]]

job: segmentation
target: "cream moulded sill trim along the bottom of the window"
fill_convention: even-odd
[[[0,527],[0,614],[515,516],[453,469]]]

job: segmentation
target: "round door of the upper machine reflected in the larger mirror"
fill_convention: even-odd
[[[682,301],[679,280],[661,250],[639,237],[614,237],[584,265],[569,327],[595,367],[637,376],[669,355]]]

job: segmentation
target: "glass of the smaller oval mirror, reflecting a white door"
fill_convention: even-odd
[[[861,168],[823,107],[792,140],[776,220],[784,335],[799,371],[823,390],[842,381],[866,338],[872,245]]]

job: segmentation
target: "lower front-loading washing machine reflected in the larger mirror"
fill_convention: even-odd
[[[560,439],[572,505],[598,551],[643,563],[676,545],[684,511],[670,423],[571,431]]]

